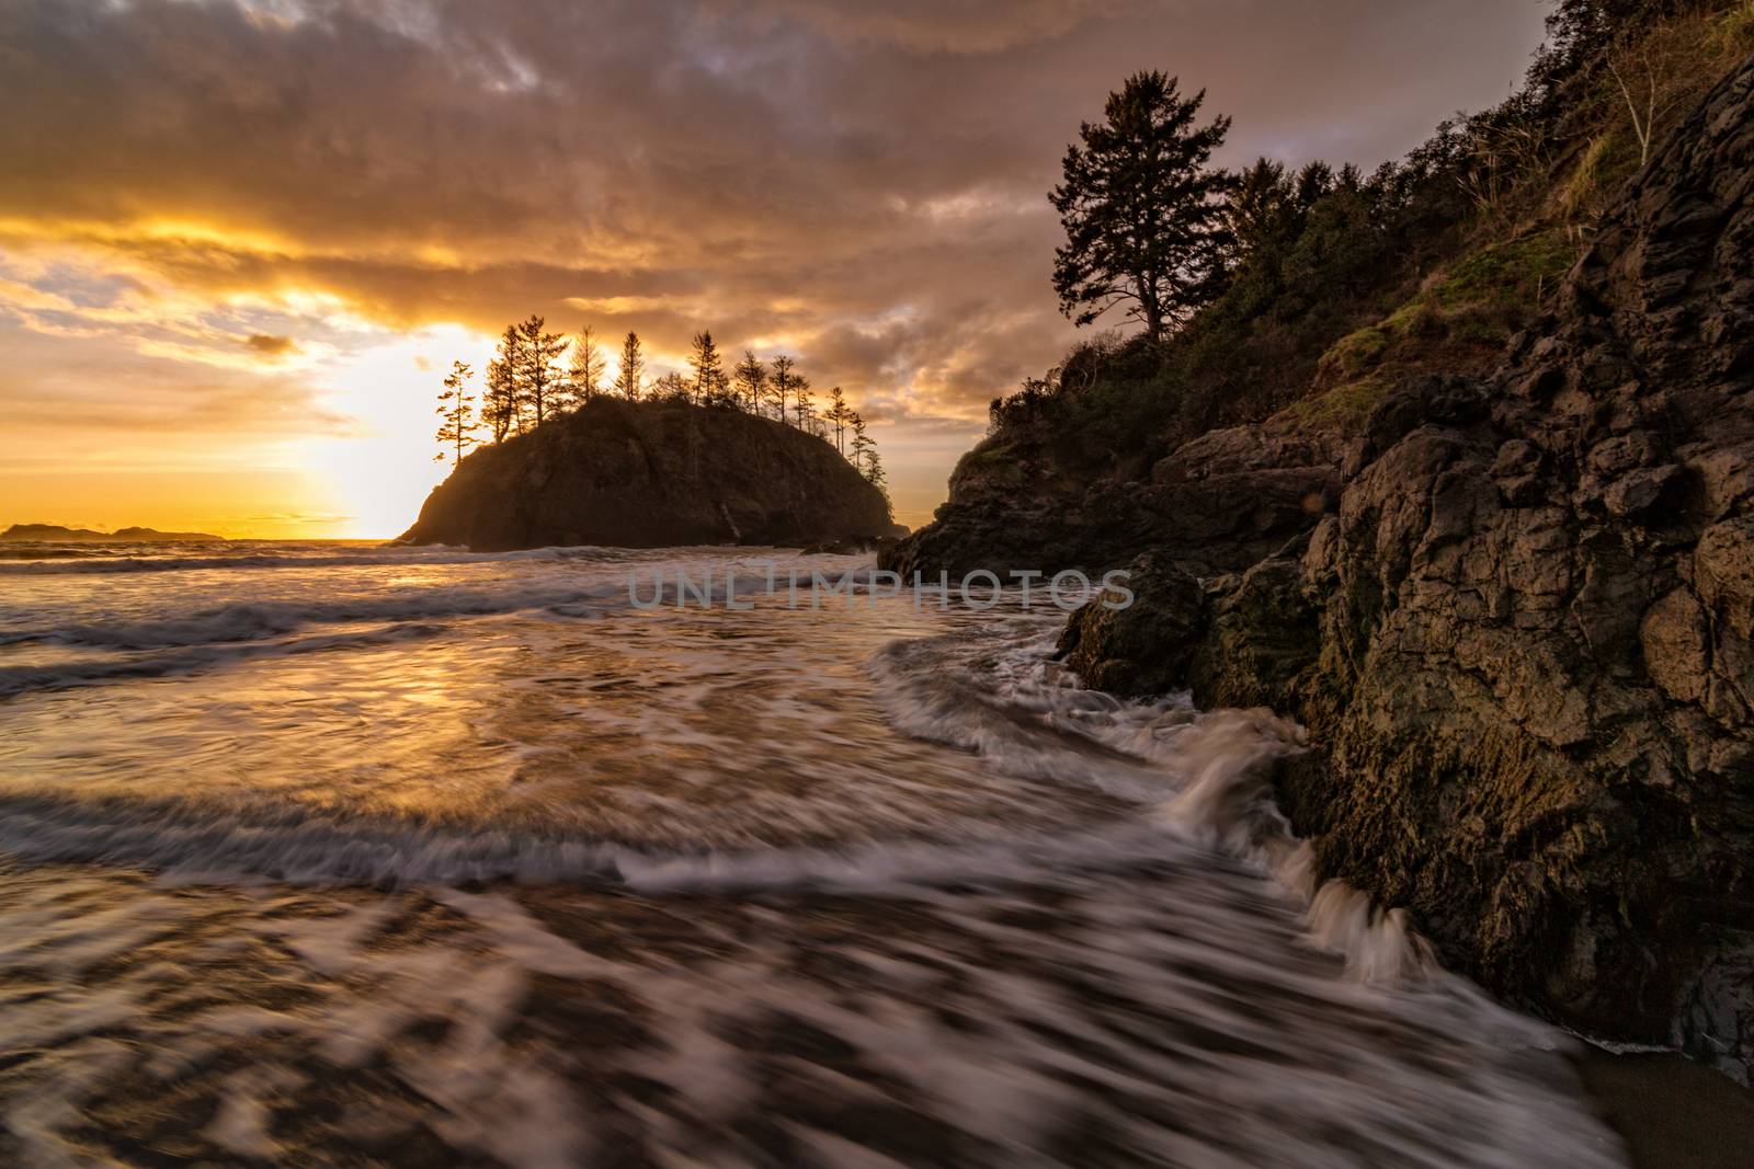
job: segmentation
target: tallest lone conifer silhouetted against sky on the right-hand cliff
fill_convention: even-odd
[[[1210,159],[1230,119],[1196,126],[1203,102],[1203,89],[1180,96],[1175,77],[1133,74],[1105,119],[1079,130],[1084,145],[1066,147],[1065,182],[1047,198],[1066,230],[1054,291],[1077,324],[1128,303],[1158,340],[1217,294],[1233,181]]]

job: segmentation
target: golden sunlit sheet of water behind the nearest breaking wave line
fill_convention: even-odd
[[[410,596],[449,585],[475,596],[500,571],[389,578],[419,582]],[[581,591],[605,577],[540,571]],[[346,573],[326,587],[300,575],[261,573],[258,599],[360,589]],[[28,733],[0,757],[0,790],[682,847],[982,834],[1073,817],[1077,796],[970,776],[961,752],[893,733],[865,662],[944,619],[886,610],[509,612],[374,622],[396,636],[321,652],[296,652],[321,636],[300,629],[246,647],[288,652],[37,696],[19,712]],[[654,801],[670,803],[661,820]]]

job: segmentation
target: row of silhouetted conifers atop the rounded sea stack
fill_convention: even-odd
[[[438,394],[440,428],[435,435],[442,459],[461,461],[468,447],[503,442],[577,410],[591,398],[616,396],[628,401],[688,401],[696,407],[742,410],[795,426],[833,443],[849,463],[888,494],[888,477],[877,443],[866,435],[865,419],[847,405],[838,386],[817,410],[810,379],[788,354],[761,359],[745,349],[726,370],[712,333],[695,335],[686,372],[668,372],[647,380],[645,351],[638,333],[621,340],[614,377],[596,333],[586,326],[577,335],[549,333],[547,321],[530,315],[507,324],[493,361],[488,363],[479,398],[470,384],[474,372],[456,361]],[[477,407],[479,403],[479,407]]]

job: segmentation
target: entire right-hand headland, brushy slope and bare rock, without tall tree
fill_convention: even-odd
[[[1754,5],[1552,33],[1405,163],[1256,168],[1230,287],[996,401],[888,561],[1130,566],[1061,640],[1086,684],[1296,719],[1319,878],[1747,1083]]]

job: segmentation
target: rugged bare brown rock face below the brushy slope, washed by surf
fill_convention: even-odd
[[[1370,414],[1338,514],[1073,617],[1103,685],[1265,703],[1324,875],[1487,987],[1754,1067],[1754,61],[1489,379]]]

